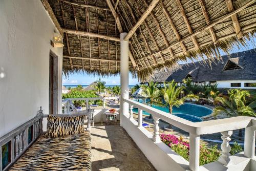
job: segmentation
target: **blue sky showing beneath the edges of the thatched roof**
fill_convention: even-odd
[[[230,50],[229,53],[235,53],[235,52],[241,52],[246,51],[249,49],[256,48],[256,38],[254,37],[251,40],[247,40],[247,47],[234,47],[232,50]],[[221,55],[226,55],[226,53],[220,51]],[[191,61],[188,61],[191,62]],[[183,62],[184,63],[184,62]],[[69,77],[62,77],[62,84],[63,85],[88,85],[96,80],[98,80],[100,77],[98,75],[88,75],[88,74],[70,74]],[[109,77],[101,77],[101,80],[106,82],[106,85],[120,85],[120,75],[117,76],[109,76]],[[137,78],[133,78],[131,73],[129,74],[129,85],[135,85],[139,83]]]

